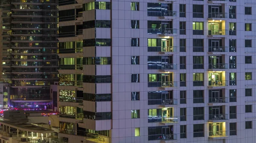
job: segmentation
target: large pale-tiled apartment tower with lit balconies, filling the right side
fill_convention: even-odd
[[[255,142],[255,0],[60,0],[59,10],[60,137]]]

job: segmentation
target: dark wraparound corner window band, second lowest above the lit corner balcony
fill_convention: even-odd
[[[84,100],[93,102],[111,101],[111,94],[84,93]]]

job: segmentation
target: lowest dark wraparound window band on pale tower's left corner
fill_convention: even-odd
[[[111,120],[111,112],[89,112],[84,111],[84,118],[90,120]]]

